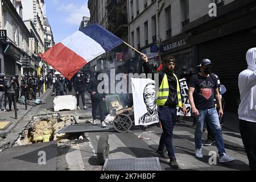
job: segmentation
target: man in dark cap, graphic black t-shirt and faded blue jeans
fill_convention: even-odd
[[[223,110],[220,93],[216,78],[210,76],[212,62],[209,59],[201,61],[201,72],[192,76],[189,82],[189,102],[192,107],[192,113],[196,117],[195,145],[196,157],[203,158],[201,137],[204,123],[208,122],[214,131],[214,137],[220,155],[220,163],[233,162],[234,159],[226,155],[224,140],[222,138],[221,125],[219,117],[222,117]],[[214,96],[220,107],[218,113],[214,103]]]

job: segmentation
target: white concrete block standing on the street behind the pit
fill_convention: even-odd
[[[54,111],[76,110],[77,100],[75,96],[57,96],[53,100]]]

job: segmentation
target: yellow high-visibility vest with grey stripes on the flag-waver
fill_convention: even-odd
[[[177,105],[177,107],[182,107],[179,80],[175,74],[174,74],[174,77],[176,78],[176,81],[177,81],[177,97],[178,97],[178,101],[179,101],[179,104]],[[166,101],[168,100],[168,96],[169,96],[169,83],[168,83],[167,75],[164,74],[162,84],[161,84],[161,86],[159,88],[159,92],[157,94],[156,104],[158,106],[164,106],[166,104]]]

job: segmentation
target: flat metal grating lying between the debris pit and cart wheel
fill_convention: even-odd
[[[101,124],[71,125],[59,130],[58,133],[84,133],[93,131],[115,131],[115,129],[112,124],[108,124],[106,127],[102,127]]]

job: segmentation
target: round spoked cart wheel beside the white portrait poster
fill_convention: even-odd
[[[113,126],[119,133],[127,133],[133,126],[133,121],[131,121],[129,115],[118,114],[114,119]]]

